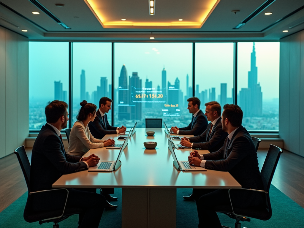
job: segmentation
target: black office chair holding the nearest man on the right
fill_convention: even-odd
[[[271,185],[271,181],[273,178],[273,174],[275,173],[275,168],[277,167],[280,155],[283,153],[283,151],[274,145],[270,144],[266,159],[264,161],[263,167],[261,169],[261,177],[262,182],[264,186],[264,191],[262,190],[255,190],[255,189],[246,189],[246,188],[235,188],[235,189],[229,189],[228,194],[230,198],[231,208],[232,212],[225,211],[225,206],[219,208],[216,210],[216,212],[221,212],[226,214],[232,219],[236,219],[236,223],[234,223],[235,228],[240,228],[241,223],[240,221],[247,221],[250,222],[250,218],[260,219],[260,220],[268,220],[271,218],[272,210],[271,210],[271,204],[270,204],[270,198],[269,198],[269,189]],[[237,208],[233,207],[233,202],[236,202],[237,195],[239,193],[244,191],[252,191],[256,194],[262,194],[265,197],[265,201],[263,205],[254,206],[254,207],[248,207],[248,208]],[[233,194],[233,195],[232,195]],[[227,208],[227,206],[226,206]],[[230,208],[230,209],[231,209]],[[224,228],[230,228],[228,226],[222,226]]]

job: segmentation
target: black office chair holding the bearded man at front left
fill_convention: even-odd
[[[69,195],[69,191],[66,188],[32,192],[30,187],[31,165],[26,155],[24,146],[18,147],[16,150],[14,150],[14,153],[17,155],[28,189],[26,205],[23,212],[23,218],[26,222],[33,223],[39,221],[40,225],[43,223],[53,222],[53,228],[59,228],[59,222],[63,221],[64,219],[67,219],[71,215],[79,214],[80,212],[82,212],[80,208],[65,208],[67,203],[67,197]],[[54,197],[52,197],[52,195],[54,196],[54,194],[56,194],[56,196],[58,196],[58,193],[60,196],[63,197],[63,200],[59,202],[60,205],[58,206],[62,208],[56,210],[33,211],[32,203],[34,197],[37,197],[39,195],[39,200],[41,203],[40,205],[42,207],[44,206],[43,208],[47,208],[47,206],[45,205],[54,205],[54,200],[52,200],[54,199]]]

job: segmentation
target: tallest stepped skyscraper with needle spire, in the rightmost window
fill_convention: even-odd
[[[240,91],[240,106],[244,116],[262,116],[262,92],[260,83],[257,83],[257,66],[255,44],[250,58],[250,71],[248,71],[248,88]]]

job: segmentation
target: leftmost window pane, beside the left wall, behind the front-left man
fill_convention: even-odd
[[[69,43],[29,42],[29,129],[46,123],[47,102],[69,104]]]

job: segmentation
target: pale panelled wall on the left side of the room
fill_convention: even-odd
[[[29,134],[28,39],[0,27],[0,158]]]

